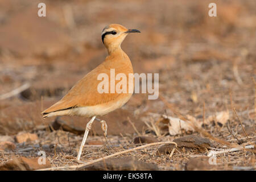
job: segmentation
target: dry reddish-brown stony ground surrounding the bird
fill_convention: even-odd
[[[152,141],[174,140],[177,150],[170,156],[174,145],[152,146],[115,156],[107,166],[97,163],[82,169],[255,170],[255,148],[218,154],[214,166],[207,157],[210,150],[225,150],[221,141],[255,144],[254,0],[216,1],[217,17],[208,16],[212,1],[205,0],[46,0],[47,16],[39,18],[39,2],[0,1],[0,96],[30,84],[18,95],[0,100],[0,169],[78,164],[76,155],[88,118],[43,120],[40,113],[105,59],[101,31],[109,23],[120,23],[141,30],[127,36],[122,49],[135,72],[159,73],[162,99],[134,94],[122,109],[102,116],[108,123],[110,146],[100,123],[94,122],[81,160]],[[161,118],[163,114],[179,118],[173,109],[198,121],[228,110],[229,119],[224,125],[213,119],[204,130],[171,136],[168,121]],[[39,151],[47,155],[44,167],[36,164]]]

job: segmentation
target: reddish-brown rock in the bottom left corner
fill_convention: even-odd
[[[46,164],[39,164],[39,158],[28,159],[28,158],[15,158],[9,160],[0,166],[0,171],[20,171],[20,170],[36,170],[51,167],[51,163],[46,159]]]

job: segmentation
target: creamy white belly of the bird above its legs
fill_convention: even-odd
[[[122,98],[118,98],[117,100],[110,101],[100,105],[76,107],[69,111],[69,115],[93,117],[94,115],[97,116],[108,114],[111,111],[122,107],[127,101],[130,100],[131,95],[132,94],[127,94],[126,96],[122,96]]]

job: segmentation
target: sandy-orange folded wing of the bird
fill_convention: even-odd
[[[97,80],[99,73],[106,73],[110,79],[110,67],[115,68],[115,64],[109,65],[104,63],[98,65],[95,69],[85,75],[79,82],[77,82],[71,90],[56,104],[52,105],[42,113],[47,114],[54,111],[65,110],[72,107],[94,106],[103,104],[112,100],[116,100],[121,94],[118,93],[99,93],[97,91],[98,84],[102,80]],[[133,69],[126,69],[127,67],[119,67],[115,69],[118,72],[133,73]],[[129,67],[130,68],[130,67]],[[109,83],[110,88],[110,83]],[[110,91],[110,89],[109,89]]]

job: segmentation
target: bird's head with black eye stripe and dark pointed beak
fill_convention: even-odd
[[[109,24],[106,26],[101,34],[101,39],[104,46],[108,49],[108,52],[114,51],[114,49],[119,48],[123,39],[134,32],[140,32],[139,30],[135,29],[127,29],[121,24]]]

